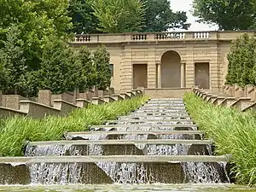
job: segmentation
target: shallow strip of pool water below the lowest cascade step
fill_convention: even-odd
[[[6,192],[255,192],[246,186],[233,184],[154,184],[154,185],[27,185],[27,186],[0,186],[0,191]]]

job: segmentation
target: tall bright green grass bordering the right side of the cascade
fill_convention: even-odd
[[[256,184],[256,114],[213,106],[194,93],[187,93],[184,101],[200,130],[214,140],[216,153],[232,154],[237,183]]]

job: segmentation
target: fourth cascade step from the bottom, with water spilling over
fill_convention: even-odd
[[[197,125],[92,125],[90,131],[196,131]]]

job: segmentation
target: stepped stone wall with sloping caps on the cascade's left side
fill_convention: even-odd
[[[48,115],[65,116],[76,108],[87,108],[89,104],[100,105],[106,102],[121,101],[134,96],[142,96],[142,90],[113,94],[114,90],[78,90],[53,95],[50,90],[39,90],[33,101],[18,95],[3,95],[0,91],[0,118],[28,116],[44,118]],[[34,102],[37,101],[37,102]]]

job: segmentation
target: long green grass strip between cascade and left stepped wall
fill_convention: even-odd
[[[49,116],[45,119],[15,117],[0,121],[0,156],[23,155],[25,141],[61,140],[65,131],[88,131],[90,125],[102,125],[108,119],[135,110],[147,97],[139,96],[121,102],[90,105],[74,110],[67,117]]]

